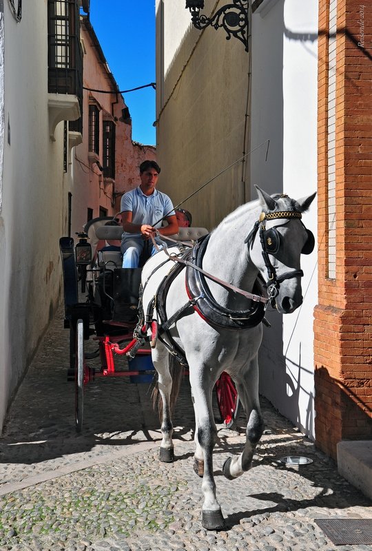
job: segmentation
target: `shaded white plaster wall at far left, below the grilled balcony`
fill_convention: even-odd
[[[67,202],[63,123],[54,142],[49,135],[47,5],[23,2],[16,23],[2,4],[0,430],[61,294],[58,240]]]

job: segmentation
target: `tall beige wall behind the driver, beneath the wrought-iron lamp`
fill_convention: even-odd
[[[207,0],[203,13],[223,5]],[[213,229],[246,199],[249,54],[223,29],[196,30],[185,4],[159,0],[156,14],[158,187],[174,204],[189,197],[193,224]]]

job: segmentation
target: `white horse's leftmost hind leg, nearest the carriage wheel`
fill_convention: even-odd
[[[158,392],[163,402],[161,410],[161,433],[163,439],[159,450],[159,459],[165,463],[172,463],[174,460],[173,424],[170,407],[172,375],[169,372],[169,352],[160,342],[156,344],[156,348],[152,351],[152,361],[158,372]]]

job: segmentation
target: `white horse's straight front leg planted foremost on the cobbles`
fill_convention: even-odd
[[[216,499],[216,483],[213,475],[213,448],[217,441],[217,429],[211,406],[211,381],[200,378],[200,373],[205,373],[205,371],[203,368],[198,371],[194,368],[194,364],[193,369],[190,370],[196,422],[194,458],[196,465],[203,468],[203,527],[207,530],[223,530],[225,521],[220,504]],[[196,375],[194,375],[195,373]],[[197,472],[195,464],[194,470]]]

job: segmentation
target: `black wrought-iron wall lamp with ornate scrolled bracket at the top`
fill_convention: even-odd
[[[227,33],[226,40],[235,37],[245,45],[245,51],[248,52],[248,1],[231,0],[231,3],[219,8],[212,17],[200,15],[200,10],[204,8],[204,0],[186,0],[187,8],[196,29],[203,30],[209,25],[216,30],[222,27]]]

